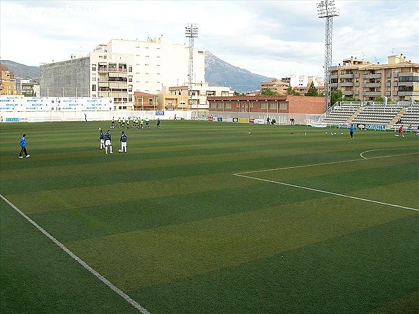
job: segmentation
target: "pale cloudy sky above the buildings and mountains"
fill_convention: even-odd
[[[319,1],[7,1],[0,0],[0,59],[30,66],[87,55],[111,38],[163,35],[263,76],[323,77],[325,20]],[[419,1],[335,1],[332,63],[346,57],[419,63]]]

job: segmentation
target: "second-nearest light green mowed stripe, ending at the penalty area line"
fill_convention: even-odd
[[[239,183],[234,176],[210,174],[170,178],[163,181],[146,180],[137,183],[110,183],[89,188],[74,187],[46,192],[15,193],[7,194],[7,197],[17,207],[24,208],[25,213],[36,213],[48,210],[68,210],[85,206],[99,206],[106,201],[112,204],[119,204],[124,201],[140,201],[150,197],[175,197],[179,194],[260,184],[263,183],[255,183],[251,182],[251,180]]]

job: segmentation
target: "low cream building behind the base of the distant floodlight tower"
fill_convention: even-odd
[[[172,86],[168,88],[169,93],[173,95],[188,96],[188,86]],[[210,85],[206,82],[194,83],[192,85],[189,106],[192,110],[208,110],[207,97],[233,97],[234,90],[230,87],[220,85]]]

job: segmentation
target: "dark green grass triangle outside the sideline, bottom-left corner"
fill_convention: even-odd
[[[138,313],[0,200],[0,312]]]

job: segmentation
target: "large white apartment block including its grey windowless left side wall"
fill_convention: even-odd
[[[50,96],[61,96],[60,90],[64,90],[66,96],[75,96],[77,87],[82,96],[87,89],[86,96],[110,97],[115,109],[133,110],[135,92],[161,94],[163,86],[184,84],[188,81],[188,67],[189,46],[170,43],[163,36],[147,41],[112,39],[98,45],[89,57],[41,65],[41,95],[46,96],[49,90]],[[66,80],[50,80],[59,77],[52,68],[59,69]],[[71,80],[77,83],[68,82]],[[193,51],[193,80],[205,81],[205,56],[201,50]]]

